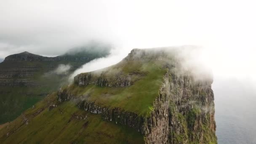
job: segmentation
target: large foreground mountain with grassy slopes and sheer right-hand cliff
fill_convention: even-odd
[[[211,73],[188,65],[183,51],[133,49],[79,74],[3,125],[0,142],[216,144]]]

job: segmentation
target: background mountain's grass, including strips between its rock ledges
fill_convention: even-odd
[[[27,79],[40,83],[40,87],[0,86],[0,124],[14,120],[21,112],[32,107],[48,93],[57,91],[62,84],[67,83],[68,76],[48,75],[45,73],[56,69],[59,64],[71,64],[73,70],[83,64],[82,61],[4,61],[0,69],[16,69],[22,67],[37,67],[39,71],[32,77],[12,77],[11,80]],[[4,78],[5,79],[5,78]]]

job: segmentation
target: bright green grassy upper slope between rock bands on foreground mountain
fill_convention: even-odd
[[[67,89],[76,96],[88,95],[88,101],[95,101],[104,107],[119,107],[138,115],[147,116],[153,109],[155,98],[159,96],[163,76],[167,69],[162,68],[160,61],[128,61],[121,62],[109,71],[119,68],[123,73],[140,71],[146,73],[133,85],[125,88],[99,87],[97,85],[71,85]]]

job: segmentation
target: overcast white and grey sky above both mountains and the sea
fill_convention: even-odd
[[[0,58],[56,56],[90,40],[125,50],[200,45],[216,74],[254,75],[255,13],[253,0],[0,0]]]

